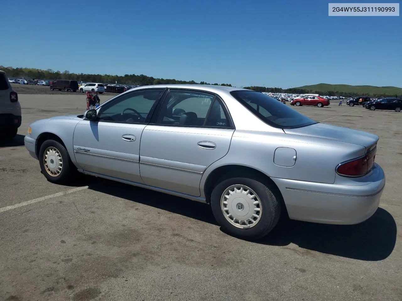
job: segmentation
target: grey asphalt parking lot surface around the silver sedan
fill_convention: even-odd
[[[402,113],[292,107],[380,137],[380,208],[359,225],[287,221],[246,242],[224,234],[202,203],[86,176],[47,182],[23,146],[27,126],[82,114],[85,95],[30,89],[16,89],[23,123],[0,144],[0,301],[402,299]]]

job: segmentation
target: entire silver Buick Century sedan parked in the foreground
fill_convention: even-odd
[[[226,232],[256,239],[281,213],[324,224],[370,218],[385,186],[378,139],[248,89],[150,85],[33,122],[25,146],[50,182],[80,172],[204,202]]]

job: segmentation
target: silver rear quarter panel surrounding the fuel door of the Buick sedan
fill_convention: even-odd
[[[282,167],[274,163],[278,147],[293,148],[296,151],[293,167]],[[228,154],[206,169],[201,179],[201,191],[208,175],[224,165],[251,167],[269,177],[330,184],[335,182],[335,168],[339,163],[364,153],[363,146],[347,142],[285,133],[236,130]]]

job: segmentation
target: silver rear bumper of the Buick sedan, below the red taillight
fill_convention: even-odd
[[[342,177],[338,183],[323,184],[272,178],[282,193],[289,218],[322,224],[359,224],[379,206],[385,174],[374,164],[364,177]]]

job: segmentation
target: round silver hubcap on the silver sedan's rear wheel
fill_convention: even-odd
[[[228,187],[222,194],[221,208],[226,220],[237,228],[251,228],[260,221],[260,198],[245,185]]]

